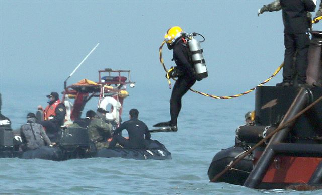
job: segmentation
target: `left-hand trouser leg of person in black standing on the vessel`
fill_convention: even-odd
[[[289,83],[292,78],[293,57],[296,51],[293,34],[286,34],[286,33],[284,34],[284,45],[285,45],[285,54],[284,54],[284,66],[283,66],[283,82]]]

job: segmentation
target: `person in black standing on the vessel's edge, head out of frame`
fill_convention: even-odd
[[[306,83],[307,53],[310,43],[308,29],[310,21],[307,20],[307,12],[315,10],[312,0],[280,0],[284,21],[284,67],[283,82],[280,86],[290,86],[292,77],[292,63],[295,51],[297,51],[295,66],[298,74],[298,86]]]

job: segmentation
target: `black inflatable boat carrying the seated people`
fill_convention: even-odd
[[[5,138],[5,139],[4,139]],[[94,143],[89,140],[86,128],[67,128],[62,130],[59,144],[29,151],[21,151],[22,144],[18,134],[11,129],[0,128],[0,158],[44,159],[63,161],[78,158],[112,158],[121,157],[136,160],[166,160],[171,159],[171,153],[156,140],[146,140],[146,149],[103,148],[96,150]]]

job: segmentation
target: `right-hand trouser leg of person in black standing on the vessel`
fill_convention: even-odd
[[[297,48],[296,70],[298,73],[297,82],[299,84],[306,83],[306,70],[308,65],[308,48],[310,45],[309,35],[306,33],[295,34],[295,43]]]

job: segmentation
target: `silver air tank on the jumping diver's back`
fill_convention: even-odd
[[[206,78],[208,76],[208,72],[205,59],[202,56],[203,50],[201,49],[199,41],[193,37],[189,40],[189,50],[191,52],[191,59],[196,73],[199,74],[201,78]]]

